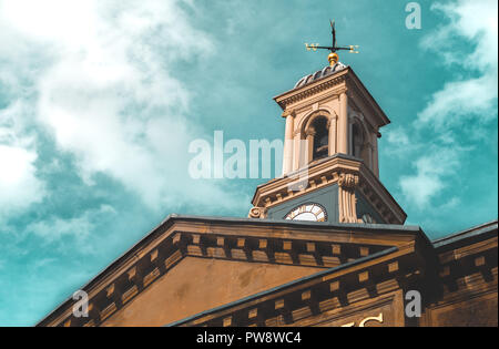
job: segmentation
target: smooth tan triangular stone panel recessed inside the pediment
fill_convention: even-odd
[[[164,326],[320,269],[185,257],[102,326]]]

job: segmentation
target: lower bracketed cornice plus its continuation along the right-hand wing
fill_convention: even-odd
[[[424,291],[426,298],[420,326],[430,324],[431,314],[440,308],[454,307],[473,298],[497,300],[497,228],[495,238],[466,246],[464,250],[447,252],[446,256],[440,257],[444,258],[440,264],[426,266],[428,271],[440,270],[442,284],[432,279],[421,260],[415,264],[414,259],[408,258],[409,255],[394,258],[394,252],[388,249],[368,255],[170,326],[313,326],[322,320],[330,324],[338,319],[342,324],[340,319],[346,316],[363,312],[367,307],[390,305],[396,297],[401,301],[398,307],[403,309],[403,294],[415,289],[415,286]],[[452,263],[459,264],[455,266],[455,271],[451,270]],[[444,294],[439,291],[441,286]],[[399,325],[404,326],[404,316],[400,320]]]

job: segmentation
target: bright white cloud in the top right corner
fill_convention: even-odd
[[[497,117],[498,96],[498,9],[495,0],[458,0],[436,3],[450,23],[427,35],[424,47],[438,49],[460,79],[434,93],[418,115],[418,122],[442,129],[460,125],[467,117],[487,122]],[[466,50],[462,50],[462,43]],[[461,49],[456,49],[461,48]],[[471,76],[471,78],[465,78]]]

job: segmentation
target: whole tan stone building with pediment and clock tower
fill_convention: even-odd
[[[431,242],[379,181],[390,121],[354,70],[275,97],[283,175],[247,218],[169,216],[38,326],[497,326],[498,222]]]

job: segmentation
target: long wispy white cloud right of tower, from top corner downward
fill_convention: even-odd
[[[427,144],[425,155],[414,164],[416,173],[399,179],[407,202],[420,211],[441,198],[450,178],[457,178],[465,151],[471,150],[465,144],[478,135],[481,140],[490,136],[487,124],[497,119],[497,1],[436,2],[431,9],[442,13],[448,22],[426,35],[421,45],[426,50],[438,48],[446,70],[456,78],[431,94],[418,113],[410,141],[407,140],[410,144]],[[470,121],[472,126],[467,124]],[[389,141],[406,142],[404,137],[396,140],[398,134],[395,132]],[[418,142],[421,137],[424,141]],[[451,197],[440,208],[458,203],[459,198]]]

